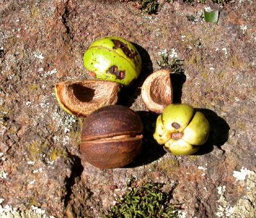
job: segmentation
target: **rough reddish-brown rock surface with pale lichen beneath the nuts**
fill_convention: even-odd
[[[186,217],[256,216],[255,3],[175,1],[157,15],[134,4],[0,1],[0,216],[32,210],[44,217],[97,217],[132,176],[138,184],[176,184],[173,203]],[[205,6],[220,10],[218,25],[200,18]],[[88,78],[83,52],[107,35],[136,43],[143,57],[140,78],[122,89],[119,101],[144,122],[143,152],[115,170],[82,167],[83,120],[61,110],[52,89],[63,80]],[[211,123],[197,156],[166,154],[152,139],[156,115],[147,112],[140,87],[159,69],[165,49],[184,60],[186,82],[172,75],[179,83],[175,101],[200,108]],[[7,212],[11,206],[17,209]]]

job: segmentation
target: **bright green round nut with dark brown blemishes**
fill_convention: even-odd
[[[131,42],[120,37],[94,41],[84,52],[84,67],[102,80],[131,84],[141,71],[141,57]]]

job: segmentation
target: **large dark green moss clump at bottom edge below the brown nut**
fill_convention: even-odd
[[[134,180],[127,184],[128,192],[116,200],[104,218],[113,217],[178,217],[177,205],[171,205],[172,191],[164,192],[164,184],[147,183],[141,187],[132,187]]]

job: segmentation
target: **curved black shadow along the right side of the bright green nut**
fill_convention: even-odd
[[[147,76],[153,72],[152,61],[148,52],[140,45],[137,45],[135,43],[133,43],[133,45],[136,47],[141,55],[142,68],[138,78],[134,80],[134,82],[132,82],[129,87],[122,87],[120,91],[118,105],[124,105],[128,107],[132,106],[132,103],[134,103],[137,97],[140,96],[140,88],[143,85],[143,82],[145,81]]]

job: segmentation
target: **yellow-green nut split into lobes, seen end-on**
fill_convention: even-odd
[[[209,122],[201,112],[187,104],[172,104],[157,117],[154,138],[174,155],[194,154],[209,135]]]

